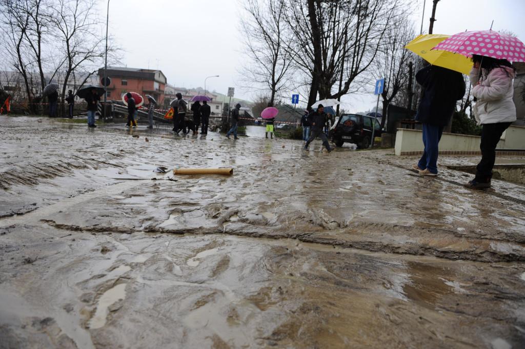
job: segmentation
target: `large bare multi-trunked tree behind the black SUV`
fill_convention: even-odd
[[[339,98],[360,89],[352,83],[371,66],[401,5],[401,0],[287,2],[293,34],[288,49],[297,53],[297,68],[311,78],[308,104],[318,93],[320,99]],[[334,90],[338,80],[341,88]]]

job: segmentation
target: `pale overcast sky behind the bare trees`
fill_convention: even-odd
[[[177,87],[206,87],[226,93],[236,88],[236,97],[250,99],[240,90],[237,69],[247,58],[241,55],[239,2],[242,0],[111,0],[109,31],[124,49],[122,63],[133,68],[159,68],[168,83]],[[423,0],[414,1],[417,31],[421,26]],[[106,15],[107,3],[100,3]],[[428,30],[432,0],[426,1],[423,31]],[[506,29],[525,40],[525,0],[442,0],[437,5],[435,34],[465,30]],[[105,19],[105,17],[104,17]],[[370,87],[373,91],[373,83]],[[373,93],[343,99],[350,112],[375,108]]]

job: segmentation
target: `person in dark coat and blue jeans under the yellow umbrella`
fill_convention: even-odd
[[[452,118],[456,101],[465,94],[465,80],[457,71],[430,65],[416,73],[416,81],[423,87],[416,120],[423,123],[425,151],[413,168],[421,175],[437,176],[439,140]]]

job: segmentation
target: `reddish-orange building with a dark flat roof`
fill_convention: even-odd
[[[100,86],[104,78],[104,69],[98,71]],[[137,92],[145,97],[149,94],[159,105],[164,102],[166,76],[160,70],[108,67],[108,100],[120,101],[123,94]]]

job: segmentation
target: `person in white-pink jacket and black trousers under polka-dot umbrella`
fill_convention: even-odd
[[[486,189],[491,186],[492,168],[496,162],[496,146],[501,135],[516,121],[516,105],[513,79],[516,70],[506,59],[472,56],[474,67],[470,71],[472,107],[474,117],[481,125],[481,161],[476,167],[476,177],[465,184],[470,189]]]

